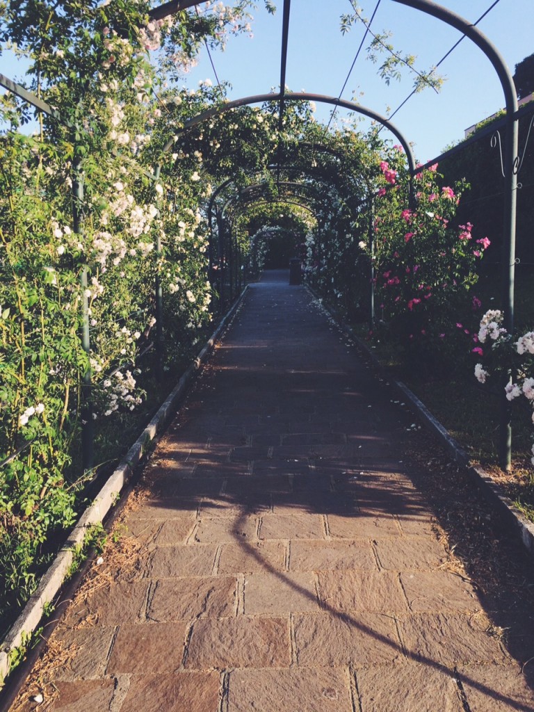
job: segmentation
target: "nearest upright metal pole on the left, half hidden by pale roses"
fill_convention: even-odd
[[[81,159],[76,156],[73,163],[73,231],[82,235],[83,231],[83,177]],[[82,290],[82,348],[89,357],[91,350],[89,331],[89,285],[88,268],[83,266],[80,273]],[[93,425],[93,408],[91,407],[91,369],[88,367],[82,376],[81,419],[82,419],[82,467],[83,471],[93,468],[95,429]]]

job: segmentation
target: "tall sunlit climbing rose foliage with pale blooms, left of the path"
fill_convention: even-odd
[[[162,84],[172,86],[204,41],[249,31],[250,7],[244,0],[150,21],[150,4],[137,0],[0,5],[0,41],[30,59],[28,88],[61,115],[40,117],[38,136],[27,137],[17,131],[27,108],[10,97],[0,104],[3,622],[35,590],[83,505],[95,474],[80,468],[83,419],[94,421],[98,464],[127,445],[120,437],[145,398],[142,379],[152,378],[140,355],[155,338],[156,278],[163,337],[174,344],[164,370],[176,372],[211,321],[199,206],[211,192],[202,155],[214,134],[204,143],[201,131],[184,135],[164,156],[161,147],[224,91]],[[251,129],[234,122],[245,159]],[[74,199],[76,181],[83,194]],[[90,352],[80,340],[84,304]]]

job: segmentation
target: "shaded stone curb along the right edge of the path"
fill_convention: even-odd
[[[384,367],[382,367],[382,364],[379,362],[377,356],[372,352],[370,347],[368,347],[367,344],[360,339],[360,337],[355,335],[349,326],[340,321],[335,311],[325,304],[323,299],[315,294],[313,289],[308,286],[306,286],[306,288],[310,294],[313,295],[313,298],[318,300],[323,308],[335,320],[337,326],[355,341],[357,347],[364,352],[370,361],[372,361],[373,365],[383,373]],[[473,481],[476,483],[486,501],[501,514],[503,520],[506,521],[508,526],[510,526],[513,530],[513,533],[518,537],[518,539],[520,539],[521,543],[523,543],[523,546],[527,550],[530,557],[534,558],[534,523],[528,520],[525,515],[518,510],[510,498],[503,495],[498,484],[490,473],[488,473],[480,465],[469,464],[469,456],[466,451],[451,436],[451,434],[449,434],[449,431],[441,425],[434,415],[431,414],[424,403],[422,403],[419,398],[404,383],[402,383],[402,381],[390,379],[389,382],[391,382],[397,391],[402,394],[404,399],[409,401],[412,406],[412,410],[419,416],[424,426],[434,432],[452,459],[454,459],[454,461],[459,465],[466,468],[469,476],[471,476]]]

